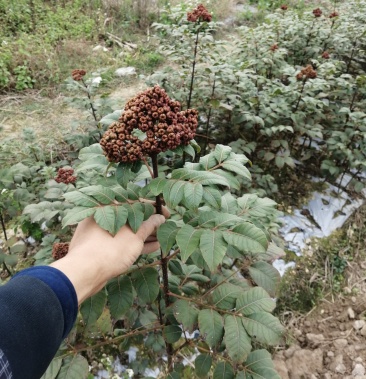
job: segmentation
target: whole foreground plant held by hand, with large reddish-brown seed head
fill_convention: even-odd
[[[284,332],[271,314],[279,274],[269,262],[282,254],[272,241],[278,212],[268,198],[237,193],[238,177],[250,179],[248,159],[216,145],[195,162],[197,111],[182,111],[159,86],[110,117],[115,121],[100,144],[80,151],[75,183],[50,182],[64,198],[52,217],[63,217],[66,227],[92,216],[114,235],[126,223],[136,231],[163,205],[171,216],[157,231],[160,251],[141,256],[83,303],[69,342],[95,331],[98,319],[113,337],[64,351],[62,365],[76,362],[80,370],[86,361],[77,354],[101,345],[144,344],[164,377],[184,377],[192,368],[181,364],[182,356],[195,356],[199,378],[279,379],[266,350]],[[44,207],[26,212],[37,215]],[[56,245],[55,256],[65,245],[59,250]]]

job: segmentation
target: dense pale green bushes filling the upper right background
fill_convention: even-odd
[[[185,21],[183,8],[172,8],[166,16],[170,23],[155,28],[167,36],[161,53],[174,69],[167,67],[148,82],[160,83],[183,104],[191,98],[202,115],[198,141],[203,150],[211,141],[230,143],[235,152],[250,156],[254,180],[241,177],[242,191],[260,187],[274,193],[274,179],[283,180],[291,171],[303,175],[309,166],[331,181],[348,173],[350,186],[360,191],[366,151],[365,9],[364,1],[351,1],[329,18],[331,10],[314,17],[311,11],[292,11],[289,4],[262,25],[239,27],[237,37],[220,41],[213,32],[219,25],[197,30]],[[317,77],[297,80],[308,64]],[[269,168],[271,175],[263,175]]]

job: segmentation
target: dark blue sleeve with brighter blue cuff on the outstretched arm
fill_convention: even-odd
[[[0,287],[0,349],[14,379],[39,379],[70,332],[75,289],[59,270],[37,266]]]

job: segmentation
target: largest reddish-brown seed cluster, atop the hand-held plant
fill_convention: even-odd
[[[197,125],[195,109],[181,111],[179,101],[171,100],[164,89],[155,86],[126,104],[123,114],[109,126],[100,145],[110,162],[135,162],[145,155],[188,145]],[[136,135],[138,130],[145,133],[143,139]]]

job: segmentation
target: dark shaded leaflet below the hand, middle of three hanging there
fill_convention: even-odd
[[[121,318],[133,304],[133,288],[128,276],[119,276],[107,284],[109,310],[114,319]]]

